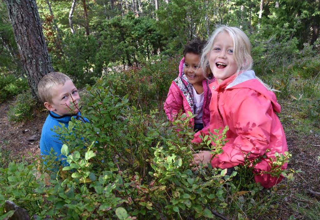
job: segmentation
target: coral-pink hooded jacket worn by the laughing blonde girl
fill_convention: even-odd
[[[213,82],[209,86],[212,92],[210,131],[229,126],[226,134],[229,141],[222,147],[223,153],[212,159],[212,167],[225,169],[243,164],[245,155],[251,152],[247,156],[249,160],[263,154],[267,156],[261,158],[253,172],[269,172],[269,158],[274,158],[275,152],[283,154],[288,150],[284,130],[275,113],[279,113],[281,108],[276,95],[255,79],[252,70],[229,77],[220,85]],[[204,133],[208,134],[208,131]],[[201,142],[198,135],[193,142]],[[286,167],[287,164],[282,169]],[[257,174],[254,177],[256,182],[267,188],[282,179],[282,176],[272,177],[270,174]]]

